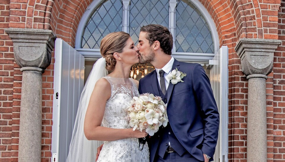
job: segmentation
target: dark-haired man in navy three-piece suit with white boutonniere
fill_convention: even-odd
[[[219,112],[203,67],[174,59],[172,34],[161,25],[143,26],[137,46],[140,63],[155,67],[140,79],[139,92],[161,96],[169,119],[167,127],[147,137],[150,161],[213,161]],[[186,74],[182,81],[172,75],[176,68]]]

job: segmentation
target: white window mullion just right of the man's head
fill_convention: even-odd
[[[176,46],[175,46],[176,4],[177,4],[176,0],[169,1],[169,30],[173,37],[172,52],[176,52]]]

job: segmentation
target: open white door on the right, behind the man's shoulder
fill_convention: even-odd
[[[222,46],[209,64],[210,82],[220,113],[219,138],[214,162],[228,161],[228,47]]]

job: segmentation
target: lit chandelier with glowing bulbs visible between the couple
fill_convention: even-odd
[[[149,66],[148,63],[145,64],[134,64],[130,70],[130,77],[136,79],[140,74],[141,78],[143,78],[146,74],[150,73],[154,69],[153,66]]]

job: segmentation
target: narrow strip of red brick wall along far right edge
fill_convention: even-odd
[[[282,40],[274,53],[273,79],[273,155],[274,161],[285,161],[285,1],[278,14],[278,39]]]

